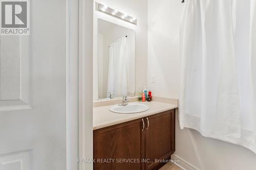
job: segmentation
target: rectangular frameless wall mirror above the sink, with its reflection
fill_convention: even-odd
[[[135,31],[98,19],[98,98],[135,95]]]

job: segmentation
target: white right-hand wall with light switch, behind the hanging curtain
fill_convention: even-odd
[[[177,0],[148,0],[148,88],[154,95],[179,98],[179,26],[183,4]],[[151,83],[152,75],[156,83]],[[203,170],[255,169],[256,155],[239,145],[180,130],[176,122],[176,152]]]

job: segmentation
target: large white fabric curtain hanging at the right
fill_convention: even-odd
[[[256,0],[188,0],[180,126],[256,153]]]

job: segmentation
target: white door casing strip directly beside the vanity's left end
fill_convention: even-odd
[[[79,0],[79,158],[93,159],[93,0]],[[80,163],[79,170],[93,170]]]

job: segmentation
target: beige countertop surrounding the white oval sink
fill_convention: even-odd
[[[93,130],[121,124],[138,118],[150,116],[160,112],[178,108],[178,105],[162,103],[162,102],[132,102],[142,103],[150,107],[149,110],[141,113],[121,114],[114,113],[109,110],[111,106],[100,106],[93,108]]]

